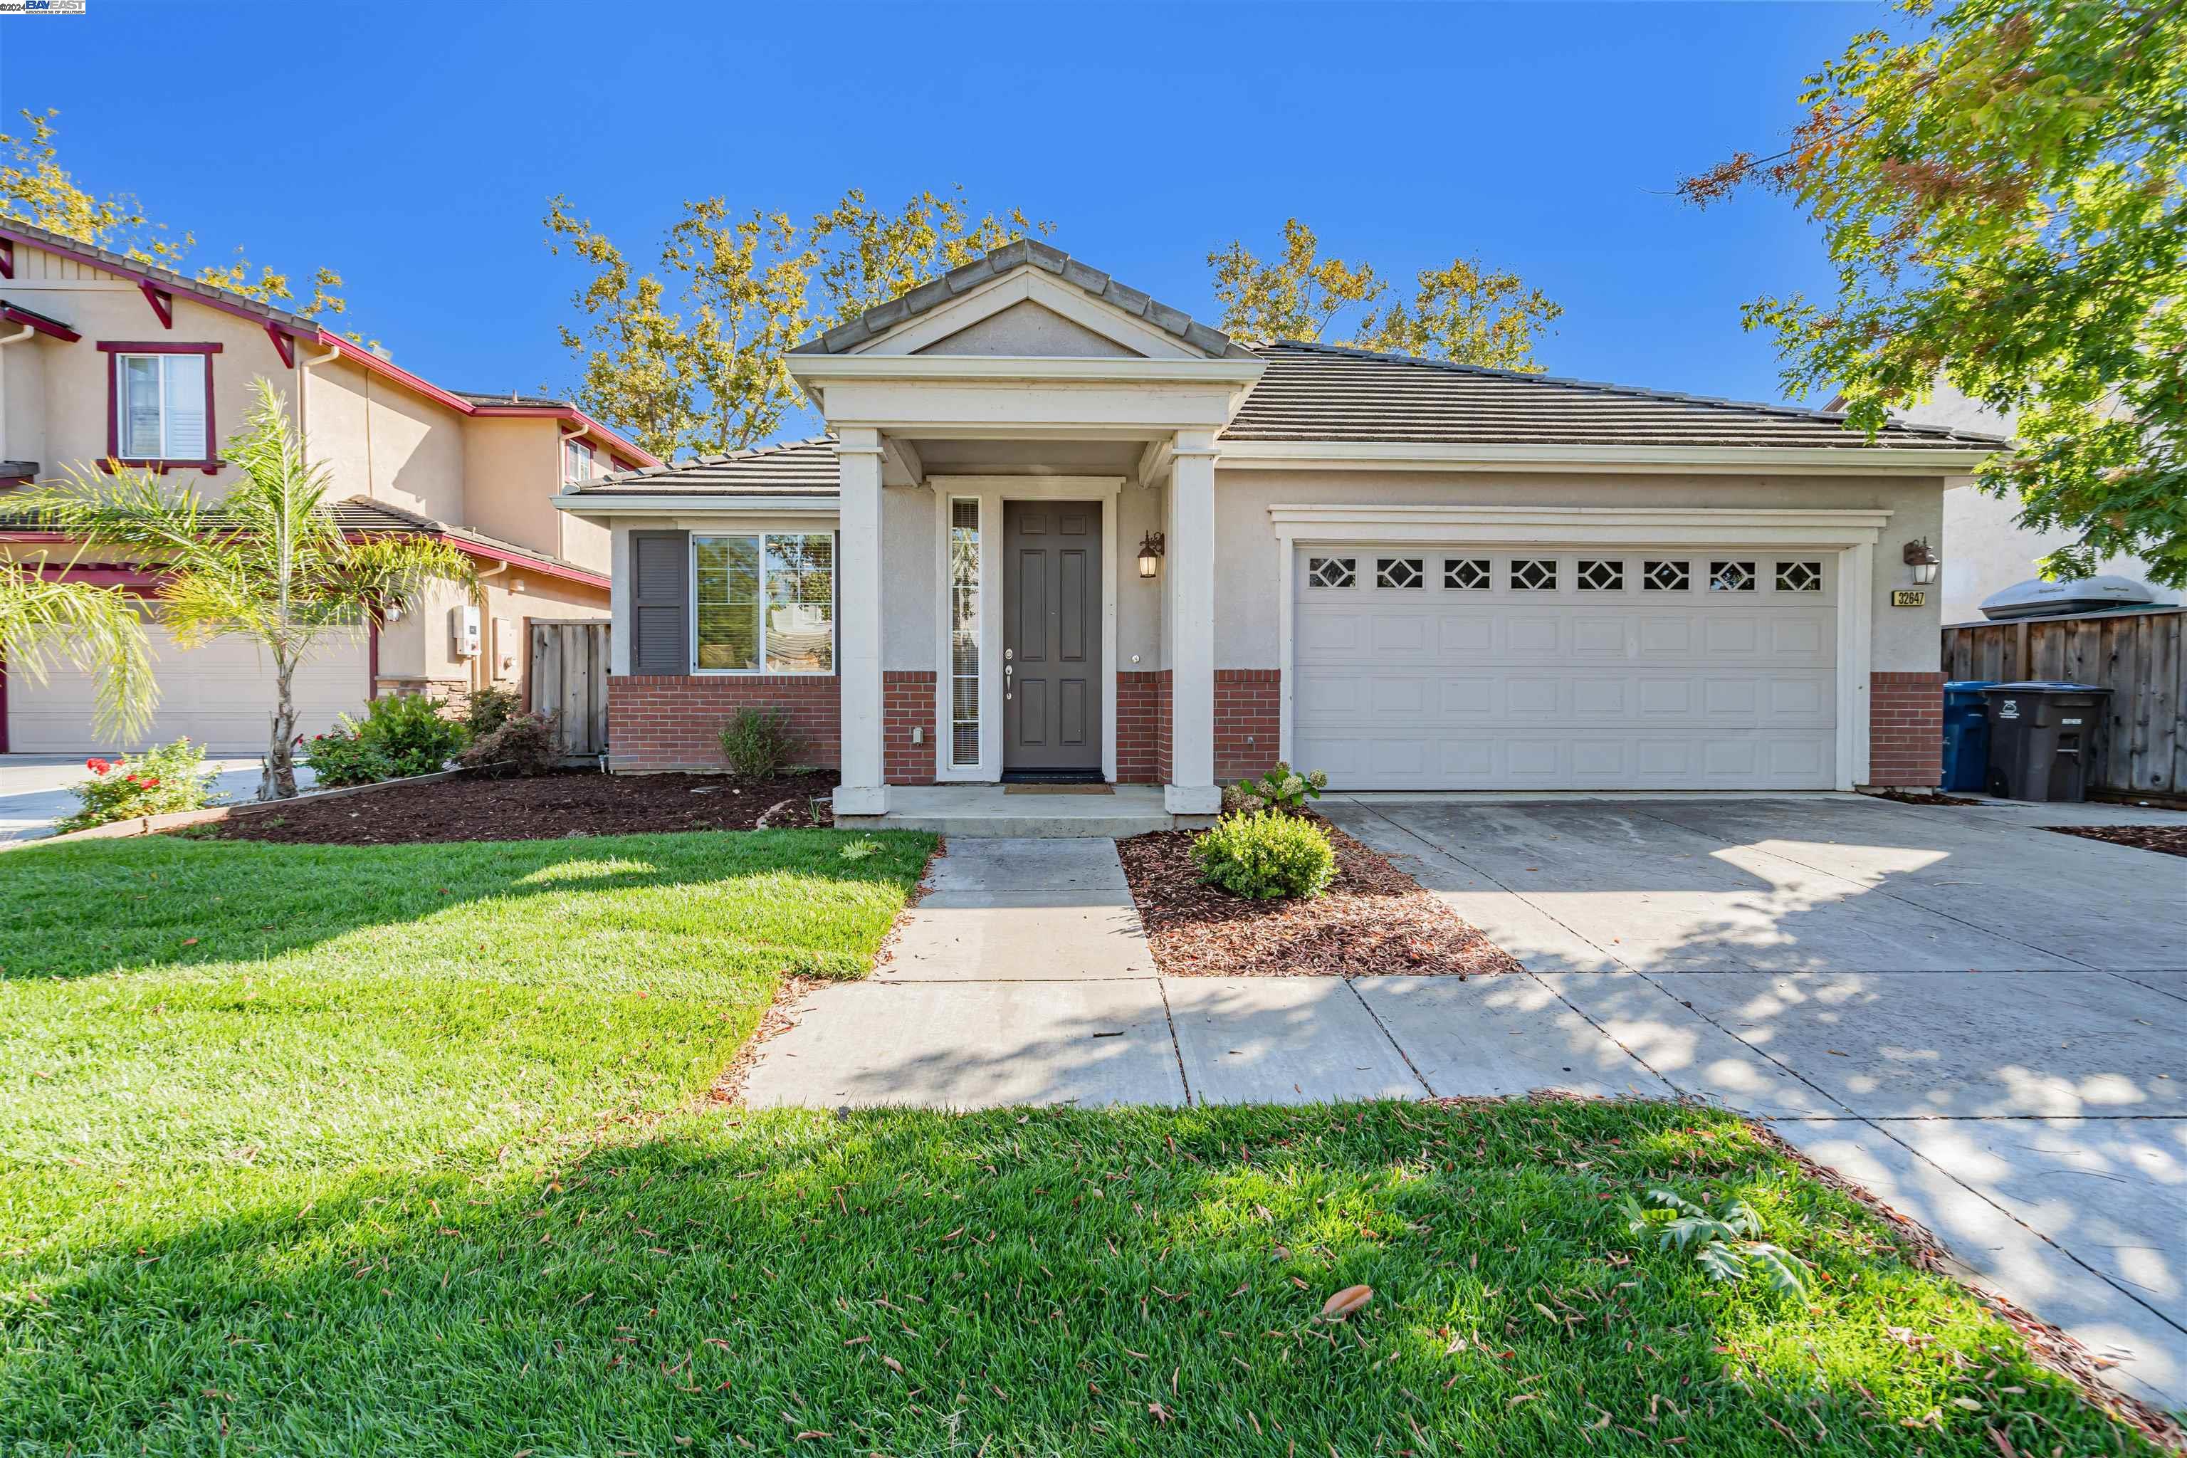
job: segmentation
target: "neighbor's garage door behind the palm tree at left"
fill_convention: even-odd
[[[265,754],[273,728],[273,667],[247,638],[214,638],[182,649],[157,623],[147,623],[153,667],[160,675],[160,708],[151,728],[129,745],[114,745],[92,732],[90,673],[55,665],[44,684],[22,675],[7,684],[9,750],[15,754],[74,754],[79,750],[142,748],[188,734],[214,754]],[[363,632],[330,634],[291,680],[297,730],[317,734],[335,717],[361,715],[370,678],[370,645]]]

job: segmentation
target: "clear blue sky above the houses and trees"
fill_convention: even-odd
[[[0,105],[199,238],[348,280],[343,328],[453,389],[566,387],[553,192],[636,260],[678,201],[811,214],[962,184],[1207,319],[1205,256],[1286,216],[1408,278],[1457,254],[1564,304],[1553,374],[1778,400],[1739,306],[1826,291],[1778,199],[1677,177],[1776,151],[1881,4],[284,4],[0,20]],[[195,92],[166,101],[175,77]],[[15,127],[9,127],[15,131]],[[1811,400],[1809,404],[1820,404]]]

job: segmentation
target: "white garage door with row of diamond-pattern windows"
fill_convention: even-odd
[[[1317,546],[1293,763],[1341,789],[1831,789],[1837,562]]]

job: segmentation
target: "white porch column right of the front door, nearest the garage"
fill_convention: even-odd
[[[1179,431],[1170,468],[1170,783],[1172,815],[1214,815],[1216,785],[1216,437]]]

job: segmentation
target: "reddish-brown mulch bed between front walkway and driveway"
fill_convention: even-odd
[[[1115,844],[1166,977],[1478,977],[1520,964],[1336,826],[1336,881],[1312,901],[1244,901],[1201,883],[1194,831]]]

